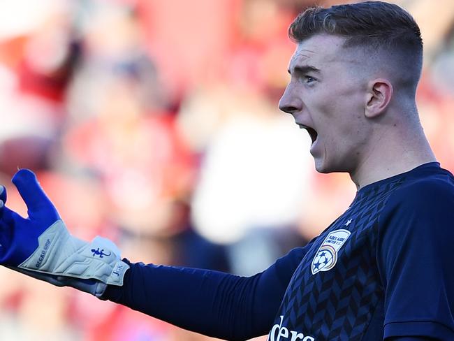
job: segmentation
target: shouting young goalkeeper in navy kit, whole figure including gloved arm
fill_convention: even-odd
[[[454,177],[418,119],[417,24],[373,1],[306,10],[290,35],[279,107],[309,132],[316,169],[358,187],[321,235],[253,277],[130,263],[108,240],[69,235],[20,170],[29,218],[3,206],[0,263],[227,340],[454,340]]]

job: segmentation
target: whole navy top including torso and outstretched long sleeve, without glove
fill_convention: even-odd
[[[136,263],[104,298],[227,340],[454,340],[453,242],[454,177],[431,163],[363,187],[263,273]]]

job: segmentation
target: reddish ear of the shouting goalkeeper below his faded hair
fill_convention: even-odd
[[[365,116],[373,118],[381,115],[393,97],[393,85],[384,78],[371,80],[367,86]]]

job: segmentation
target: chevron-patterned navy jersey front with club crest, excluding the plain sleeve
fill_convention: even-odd
[[[268,341],[383,340],[381,215],[395,191],[425,177],[418,171],[358,191],[350,208],[307,245]]]

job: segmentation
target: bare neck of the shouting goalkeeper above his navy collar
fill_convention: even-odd
[[[396,136],[379,138],[350,176],[356,188],[361,189],[434,161],[437,159],[418,124],[418,129],[405,129]]]

